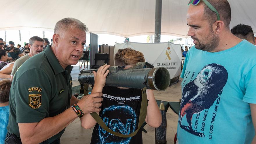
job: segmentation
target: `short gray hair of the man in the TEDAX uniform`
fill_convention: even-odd
[[[59,30],[67,29],[67,27],[73,29],[77,28],[82,31],[88,32],[88,28],[86,25],[81,22],[78,19],[72,18],[72,17],[66,17],[64,19],[59,20],[55,27],[54,27],[54,33],[57,33]]]

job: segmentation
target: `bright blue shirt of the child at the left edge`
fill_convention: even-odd
[[[7,134],[7,125],[9,121],[9,106],[0,107],[0,144],[4,144],[4,139]]]

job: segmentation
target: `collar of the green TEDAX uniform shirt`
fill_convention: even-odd
[[[49,60],[49,63],[50,63],[50,65],[51,65],[51,67],[54,70],[54,73],[56,75],[61,73],[61,72],[65,72],[65,74],[68,74],[73,69],[73,66],[71,66],[71,65],[68,65],[65,68],[65,70],[62,68],[60,62],[58,61],[58,59],[56,58],[56,56],[54,55],[54,53],[51,50],[51,45],[47,45],[44,52],[45,52],[45,55],[46,55],[47,59]]]

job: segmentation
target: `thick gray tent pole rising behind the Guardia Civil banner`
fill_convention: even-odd
[[[155,13],[155,43],[161,39],[162,0],[156,0]]]

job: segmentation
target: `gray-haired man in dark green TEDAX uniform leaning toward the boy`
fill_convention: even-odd
[[[77,103],[84,114],[100,111],[102,93],[79,100],[71,90],[71,65],[82,55],[86,31],[77,19],[61,19],[52,45],[19,68],[10,90],[8,135],[22,143],[60,143],[65,127],[78,118],[71,105]]]

